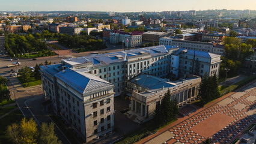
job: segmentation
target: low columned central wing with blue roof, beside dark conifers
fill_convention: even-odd
[[[139,74],[127,82],[127,89],[132,93],[132,103],[126,115],[139,124],[153,119],[156,106],[168,90],[171,92],[171,100],[175,99],[178,106],[183,106],[197,98],[200,83],[201,77],[191,74],[174,82]]]

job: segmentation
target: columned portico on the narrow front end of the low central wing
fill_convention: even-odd
[[[135,113],[140,113],[141,116],[145,118],[148,117],[148,107],[147,105],[140,103],[139,101],[132,100],[132,111]]]

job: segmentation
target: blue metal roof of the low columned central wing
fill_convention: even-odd
[[[187,74],[184,79],[179,79],[171,82],[169,79],[162,79],[160,77],[151,76],[147,74],[139,74],[130,80],[130,82],[147,89],[147,91],[140,92],[141,95],[149,97],[160,91],[166,91],[166,89],[174,88],[176,86],[184,85],[192,80],[201,79],[199,76]]]

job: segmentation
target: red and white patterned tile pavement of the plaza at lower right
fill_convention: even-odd
[[[234,137],[256,121],[256,82],[232,92],[210,104],[201,112],[146,137],[138,143],[230,143]]]

